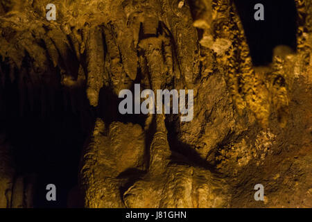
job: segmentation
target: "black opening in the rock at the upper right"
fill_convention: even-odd
[[[234,0],[241,17],[252,62],[255,66],[272,62],[272,49],[278,45],[297,48],[297,9],[294,0]],[[262,3],[264,20],[254,19],[254,6]]]

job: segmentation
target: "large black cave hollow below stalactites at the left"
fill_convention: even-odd
[[[17,175],[35,175],[34,207],[67,207],[69,192],[78,185],[80,153],[88,132],[85,124],[92,121],[92,112],[79,105],[73,110],[73,101],[61,85],[54,88],[53,102],[49,96],[41,98],[46,87],[33,86],[33,98],[26,90],[21,109],[20,87],[7,80],[1,88],[1,128],[14,148]],[[88,104],[80,90],[75,93]],[[56,186],[56,201],[46,200],[49,184]]]

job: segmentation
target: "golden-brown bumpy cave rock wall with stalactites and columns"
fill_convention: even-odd
[[[17,83],[21,114],[38,100],[43,115],[55,89],[66,92],[89,133],[85,207],[312,207],[312,3],[296,6],[297,51],[277,46],[270,65],[253,67],[229,0],[2,0],[1,92]],[[194,89],[193,120],[121,117],[118,94],[135,83]],[[5,130],[0,207],[32,207]]]

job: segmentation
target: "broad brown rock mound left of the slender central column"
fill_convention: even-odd
[[[132,129],[129,131],[132,137],[128,137],[127,127]],[[80,169],[86,207],[124,207],[119,187],[126,179],[118,176],[127,169],[141,167],[143,148],[144,137],[140,126],[112,123],[110,128],[105,129],[105,123],[101,119],[96,120]],[[120,150],[123,153],[119,153]],[[101,186],[99,180],[105,186]]]

